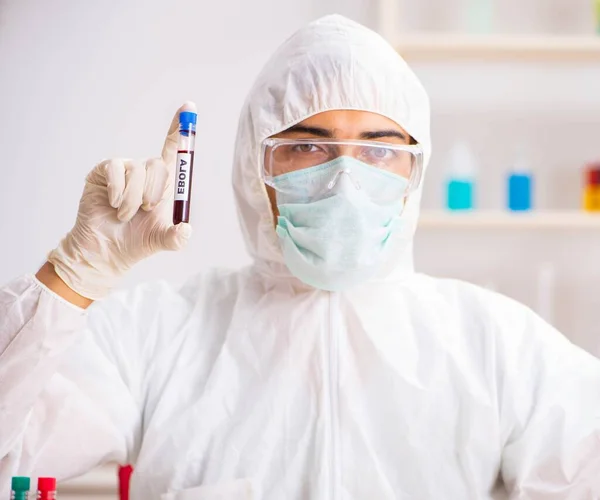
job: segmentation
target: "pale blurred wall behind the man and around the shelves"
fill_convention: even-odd
[[[473,0],[477,1],[477,0]],[[181,282],[248,262],[230,189],[240,107],[271,52],[294,30],[338,12],[376,27],[377,2],[0,0],[0,282],[35,272],[73,224],[87,172],[107,157],[157,155],[177,107],[199,107],[194,239],[138,265],[124,285]],[[464,29],[468,0],[403,0],[406,31]],[[503,33],[588,33],[591,0],[497,0]],[[433,106],[424,205],[443,206],[448,150],[466,140],[480,164],[478,205],[505,205],[519,149],[540,208],[577,208],[580,169],[600,159],[598,63],[416,63]],[[600,235],[587,230],[434,230],[417,267],[493,286],[537,306],[550,266],[552,321],[600,354]]]

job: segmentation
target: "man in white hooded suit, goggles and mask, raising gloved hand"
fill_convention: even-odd
[[[233,169],[252,266],[85,314],[189,237],[173,132],[159,159],[98,165],[49,263],[1,295],[2,484],[116,460],[134,499],[600,496],[600,362],[413,271],[428,99],[378,35],[320,19],[258,77]]]

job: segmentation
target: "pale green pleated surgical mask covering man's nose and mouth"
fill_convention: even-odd
[[[368,281],[379,269],[399,227],[404,197],[385,203],[374,199],[390,183],[405,191],[408,181],[345,156],[314,167],[314,175],[326,169],[332,169],[335,183],[317,200],[303,199],[312,182],[309,171],[274,179],[275,189],[277,183],[293,183],[295,191],[277,192],[276,230],[294,276],[315,288],[340,291]]]

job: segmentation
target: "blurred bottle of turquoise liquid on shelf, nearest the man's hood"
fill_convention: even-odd
[[[475,196],[475,160],[465,143],[457,143],[451,152],[446,184],[446,207],[451,211],[472,210]]]

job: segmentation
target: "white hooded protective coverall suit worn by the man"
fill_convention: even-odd
[[[135,466],[132,498],[600,498],[600,362],[527,308],[416,274],[412,235],[343,293],[283,264],[261,141],[330,109],[385,115],[429,155],[425,91],[339,16],[291,37],[242,111],[233,185],[254,264],[87,313],[34,277],[0,295],[0,491],[13,474]]]

